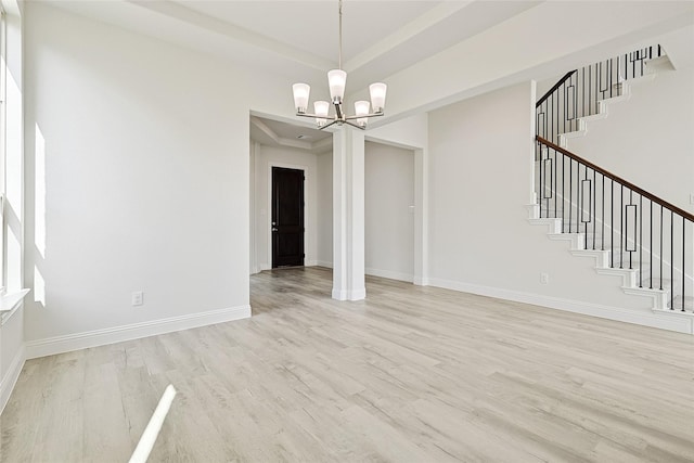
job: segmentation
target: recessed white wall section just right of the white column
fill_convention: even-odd
[[[411,282],[414,152],[372,142],[364,149],[365,272]]]

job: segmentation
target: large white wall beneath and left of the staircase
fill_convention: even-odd
[[[530,83],[429,114],[429,274],[436,286],[621,320],[653,318],[620,278],[596,275],[592,258],[568,253],[530,226]],[[549,284],[540,283],[547,272]],[[625,314],[625,310],[630,310]]]

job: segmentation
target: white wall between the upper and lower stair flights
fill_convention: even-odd
[[[694,213],[694,68],[661,69],[568,150]]]

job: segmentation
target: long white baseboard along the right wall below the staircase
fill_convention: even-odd
[[[441,279],[429,279],[429,284],[432,286],[444,287],[447,290],[460,291],[464,293],[478,294],[480,296],[497,297],[499,299],[532,304],[536,306],[549,307],[551,309],[564,310],[567,312],[599,317],[602,319],[657,327],[660,330],[676,331],[679,333],[694,334],[694,321],[691,317],[685,318],[677,317],[677,314],[670,313],[657,313],[647,309],[629,310],[618,307],[602,306],[592,303],[582,303],[558,297],[543,296],[539,294],[503,290],[491,286],[481,286]]]

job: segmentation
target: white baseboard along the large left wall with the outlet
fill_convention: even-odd
[[[26,358],[53,356],[72,350],[139,339],[175,331],[190,330],[216,323],[247,319],[250,317],[250,306],[239,306],[228,309],[210,310],[189,316],[171,317],[151,322],[133,323],[105,330],[94,330],[85,333],[55,336],[26,343]]]

